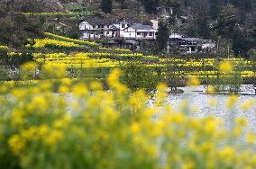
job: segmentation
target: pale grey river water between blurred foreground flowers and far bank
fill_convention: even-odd
[[[198,87],[183,87],[184,93],[169,94],[168,103],[173,106],[175,111],[178,111],[180,102],[187,101],[189,113],[194,117],[205,117],[214,115],[217,118],[224,120],[224,127],[229,128],[231,117],[244,117],[248,120],[247,129],[252,129],[256,132],[256,95],[253,95],[254,90],[252,85],[242,85],[241,93],[238,94],[238,101],[229,110],[226,106],[226,100],[229,97],[227,94],[205,94],[204,86]],[[254,100],[254,105],[248,111],[242,111],[242,102]],[[210,106],[209,101],[215,101],[215,106]]]

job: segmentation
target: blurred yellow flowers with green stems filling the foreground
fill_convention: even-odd
[[[32,67],[31,63],[23,69]],[[44,74],[66,76],[65,66],[54,67],[56,73],[52,68],[44,66]],[[224,129],[224,121],[214,116],[191,117],[186,102],[175,111],[166,102],[165,84],[158,85],[153,106],[147,106],[147,93],[142,89],[131,93],[120,83],[121,75],[114,69],[107,77],[109,91],[95,80],[74,84],[69,78],[58,82],[59,94],[52,93],[54,81],[1,91],[1,166],[255,168],[256,135],[245,132],[247,120],[235,118],[233,128]],[[198,79],[189,84],[198,84]],[[236,101],[235,95],[226,100],[230,111]],[[250,109],[251,103],[245,106]]]

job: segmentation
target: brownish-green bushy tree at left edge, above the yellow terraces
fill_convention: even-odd
[[[23,49],[28,39],[41,36],[43,23],[21,13],[20,4],[0,4],[0,44]]]

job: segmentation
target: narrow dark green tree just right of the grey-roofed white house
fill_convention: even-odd
[[[168,40],[169,40],[168,25],[167,23],[161,21],[159,23],[158,36],[156,40],[159,51],[167,49]]]

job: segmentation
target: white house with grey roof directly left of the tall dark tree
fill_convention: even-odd
[[[157,30],[153,29],[150,25],[133,23],[123,30],[120,37],[125,39],[156,39],[156,32]]]

